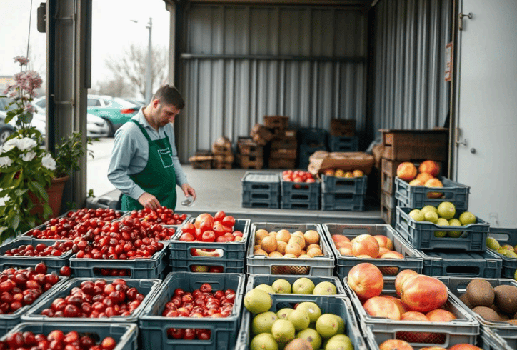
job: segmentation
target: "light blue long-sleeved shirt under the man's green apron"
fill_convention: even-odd
[[[169,137],[172,161],[174,163],[174,171],[176,172],[176,184],[179,186],[186,184],[186,176],[181,169],[178,152],[174,143],[174,126],[169,123],[156,131],[147,122],[144,113],[142,113],[143,108],[133,116],[133,119],[144,127],[152,141],[164,139],[165,136]],[[108,169],[109,181],[126,196],[139,199],[144,194],[144,190],[135,184],[129,175],[138,174],[144,170],[148,159],[149,142],[147,142],[146,136],[142,134],[139,126],[134,124],[134,122],[128,121],[115,133],[115,141]]]

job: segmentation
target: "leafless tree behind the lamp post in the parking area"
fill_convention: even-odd
[[[116,80],[129,81],[142,96],[146,94],[147,49],[131,44],[124,54],[116,59],[106,59],[107,68]],[[156,47],[151,59],[151,91],[165,83],[167,71],[167,50]]]

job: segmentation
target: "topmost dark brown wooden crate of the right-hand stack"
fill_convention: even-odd
[[[411,159],[448,159],[448,129],[399,130],[381,129],[383,158],[392,161]]]

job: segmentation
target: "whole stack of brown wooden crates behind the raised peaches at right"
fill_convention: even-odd
[[[381,129],[383,158],[381,159],[381,216],[387,224],[395,225],[395,177],[403,161],[420,163],[426,159],[448,161],[448,129],[398,130]]]

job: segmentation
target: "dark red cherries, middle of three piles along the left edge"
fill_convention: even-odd
[[[59,276],[47,274],[43,263],[34,268],[5,269],[0,274],[0,314],[12,314],[31,305],[57,282]]]

